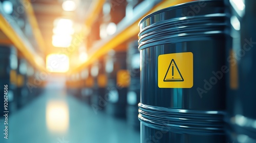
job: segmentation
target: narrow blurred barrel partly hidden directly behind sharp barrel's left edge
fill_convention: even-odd
[[[129,44],[126,63],[131,77],[130,86],[127,91],[127,123],[135,129],[140,129],[140,122],[138,120],[138,103],[140,101],[140,53],[138,51],[137,40]]]

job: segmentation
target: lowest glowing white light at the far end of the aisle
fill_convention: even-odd
[[[50,54],[46,57],[46,66],[50,72],[65,73],[69,70],[69,57],[65,54]]]

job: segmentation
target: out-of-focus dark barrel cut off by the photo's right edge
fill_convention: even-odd
[[[256,1],[230,1],[232,49],[227,77],[229,142],[256,142]]]

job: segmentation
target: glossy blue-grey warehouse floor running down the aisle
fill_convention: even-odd
[[[104,112],[94,112],[64,88],[47,88],[21,110],[9,116],[8,139],[0,121],[0,142],[11,143],[81,143],[140,142],[140,133],[123,119]]]

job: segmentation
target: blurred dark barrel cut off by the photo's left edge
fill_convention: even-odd
[[[17,52],[13,46],[0,45],[0,85],[3,96],[1,96],[1,117],[4,111],[8,114],[14,112],[17,108],[16,93],[16,70],[17,70]],[[7,86],[5,89],[5,85]],[[6,91],[6,92],[5,92]],[[6,93],[6,94],[5,94]],[[7,97],[5,97],[7,96]],[[6,105],[6,108],[4,107]],[[7,109],[7,110],[5,110]]]

